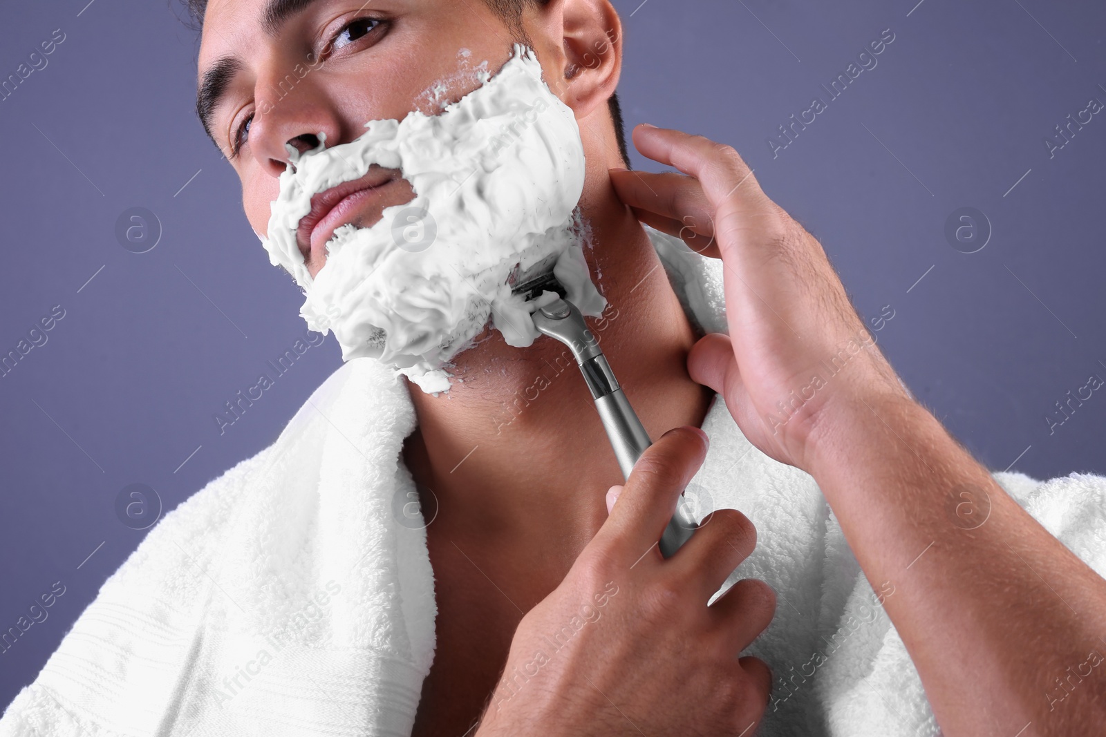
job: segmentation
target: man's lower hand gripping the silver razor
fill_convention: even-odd
[[[657,547],[707,444],[697,428],[669,431],[612,487],[603,527],[519,623],[477,737],[753,733],[772,676],[739,653],[768,627],[775,594],[747,579],[707,602],[755,528],[719,509],[671,558]]]

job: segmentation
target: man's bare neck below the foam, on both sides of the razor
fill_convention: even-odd
[[[581,207],[594,243],[585,257],[609,304],[585,320],[651,438],[699,427],[713,392],[687,372],[695,331],[648,235],[603,185]],[[405,460],[438,503],[428,534],[461,550],[510,550],[519,570],[547,571],[555,586],[624,480],[567,346],[542,336],[514,348],[490,327],[477,341],[456,357],[463,382],[449,392],[408,385],[418,427]]]

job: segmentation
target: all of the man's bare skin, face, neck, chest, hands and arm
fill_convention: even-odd
[[[316,0],[275,39],[261,30],[262,7],[212,0],[205,22],[201,75],[228,53],[242,55],[211,122],[228,151],[229,131],[307,53],[321,52],[314,39],[368,13],[361,2]],[[494,70],[513,39],[474,0],[380,0],[372,14],[388,19],[387,32],[326,56],[254,115],[248,143],[230,158],[259,233],[288,160],[285,144],[306,148],[303,137],[320,130],[330,144],[346,143],[365,120],[432,112],[424,93],[435,82],[450,81],[448,99],[476,85],[460,49]],[[1055,676],[1098,646],[1106,582],[1005,495],[872,345],[786,422],[773,420],[776,403],[807,387],[820,361],[866,335],[821,245],[729,147],[638,127],[637,149],[681,173],[620,169],[605,102],[618,81],[622,30],[608,2],[554,0],[528,10],[523,29],[581,128],[581,209],[596,242],[586,257],[616,310],[602,328],[592,320],[593,330],[658,440],[618,485],[573,371],[504,423],[505,398],[526,391],[540,372],[551,375],[546,366],[564,350],[551,340],[517,349],[489,329],[457,357],[463,383],[437,398],[409,387],[418,429],[404,460],[439,509],[427,528],[437,651],[414,734],[461,735],[482,713],[479,735],[531,731],[535,720],[543,734],[739,735],[759,722],[769,672],[737,656],[768,624],[773,597],[748,581],[706,607],[752,549],[755,530],[740,513],[720,510],[672,559],[654,547],[702,462],[697,428],[713,391],[761,451],[814,476],[868,580],[894,582],[886,610],[946,735],[1009,737],[1026,723],[1026,735],[1083,734],[1106,720],[1106,670],[1096,668],[1061,709],[1050,712],[1044,697]],[[361,200],[347,221],[369,225],[385,207],[409,199],[397,177]],[[696,340],[639,221],[722,259],[729,337]],[[304,255],[317,273],[325,252],[304,248]],[[962,483],[990,503],[987,523],[972,530],[948,512]],[[602,615],[517,694],[497,689],[501,674],[505,684],[526,668],[542,638],[584,604],[595,607],[607,585],[618,593],[596,610]]]

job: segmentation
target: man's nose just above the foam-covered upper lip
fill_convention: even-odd
[[[325,134],[328,146],[341,140],[337,110],[319,84],[322,69],[310,69],[304,76],[292,73],[293,69],[304,66],[288,61],[272,63],[258,75],[254,87],[250,150],[274,178],[288,168],[288,146],[302,154],[319,146],[320,134]]]

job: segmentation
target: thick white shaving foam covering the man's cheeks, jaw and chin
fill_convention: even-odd
[[[334,335],[344,360],[367,356],[393,365],[425,392],[449,390],[444,370],[474,345],[489,316],[508,345],[541,334],[531,303],[508,278],[556,257],[554,274],[585,315],[606,299],[592,283],[574,217],[584,187],[584,150],[572,110],[542,81],[529,49],[440,115],[413,112],[373,120],[348,144],[299,155],[281,175],[269,238],[274,265],[303,287],[300,310],[311,329]],[[312,196],[363,177],[373,164],[399,169],[415,199],[389,207],[372,228],[342,225],[326,264],[312,280],[295,240]]]

